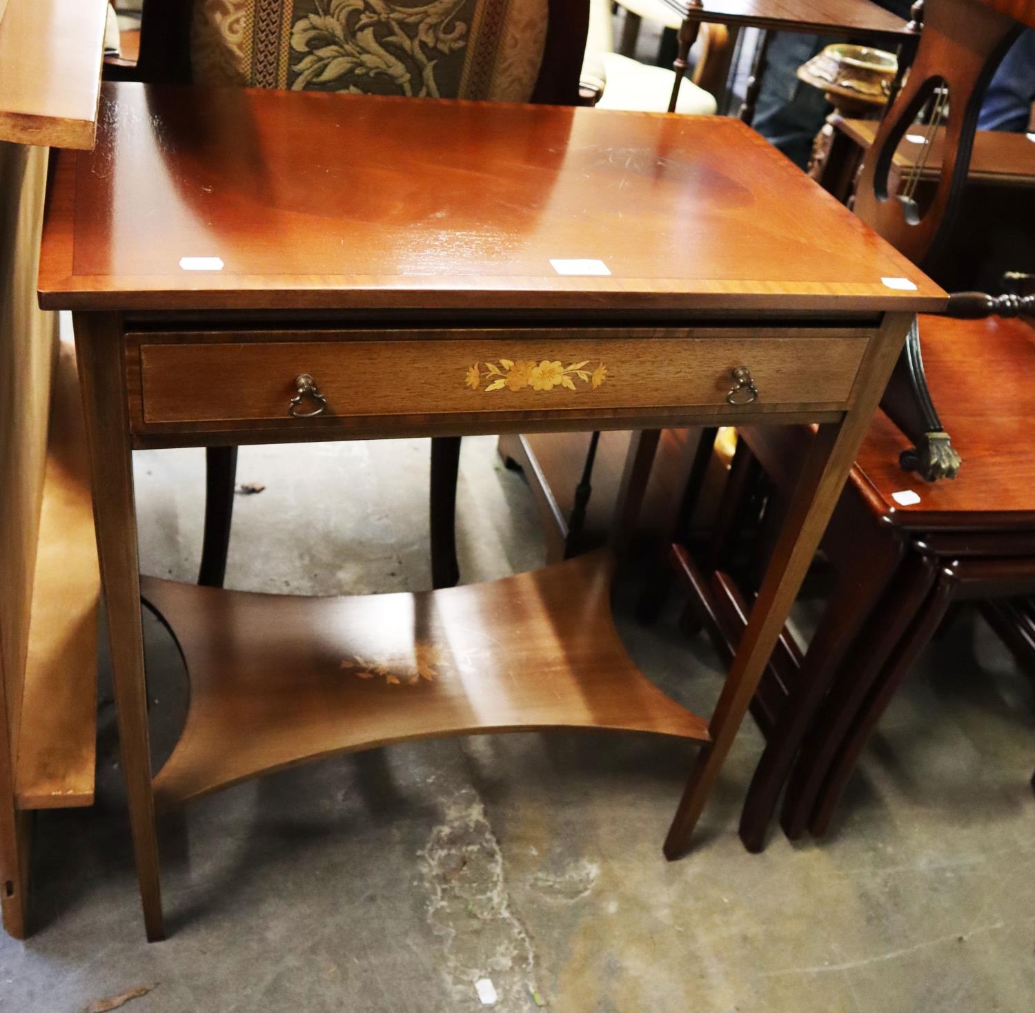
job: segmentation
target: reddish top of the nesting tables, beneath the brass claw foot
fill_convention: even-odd
[[[995,515],[1028,521],[1035,516],[1035,329],[1023,320],[920,318],[924,373],[935,406],[963,458],[952,481],[923,482],[898,466],[910,441],[878,412],[856,464],[877,495],[905,527],[990,523]],[[901,504],[895,493],[915,492]]]

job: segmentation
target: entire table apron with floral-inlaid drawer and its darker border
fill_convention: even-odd
[[[228,442],[791,422],[853,403],[865,328],[131,332],[130,430]],[[732,395],[745,367],[753,389]],[[299,396],[299,378],[312,378]],[[294,404],[293,404],[294,402]],[[292,414],[306,414],[296,417]],[[259,434],[263,434],[260,440]],[[160,441],[160,440],[159,440]],[[215,440],[213,440],[215,441]]]

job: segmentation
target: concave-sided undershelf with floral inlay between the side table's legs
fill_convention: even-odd
[[[605,552],[417,595],[298,598],[142,578],[179,641],[190,706],[154,781],[161,806],[304,760],[539,728],[707,741],[611,620]]]

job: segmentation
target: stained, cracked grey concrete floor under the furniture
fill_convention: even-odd
[[[142,569],[193,580],[203,455],[138,455]],[[228,583],[289,592],[428,583],[426,442],[241,452]],[[520,475],[465,441],[467,580],[541,562]],[[708,713],[702,640],[622,620],[641,665]],[[184,677],[146,625],[156,749]],[[105,691],[102,689],[102,699]],[[736,836],[761,742],[738,740],[696,850],[660,843],[685,745],[515,734],[393,747],[278,774],[161,830],[171,937],[148,946],[113,741],[98,802],[41,814],[25,944],[0,937],[0,1010],[79,1013],[967,1011],[1035,1008],[1033,692],[965,617],[928,652],[867,751],[834,833],[762,856]],[[160,756],[159,756],[160,759]],[[534,993],[534,994],[533,994]]]

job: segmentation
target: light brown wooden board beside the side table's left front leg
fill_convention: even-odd
[[[20,809],[93,804],[100,572],[76,359],[51,388],[14,794]]]

